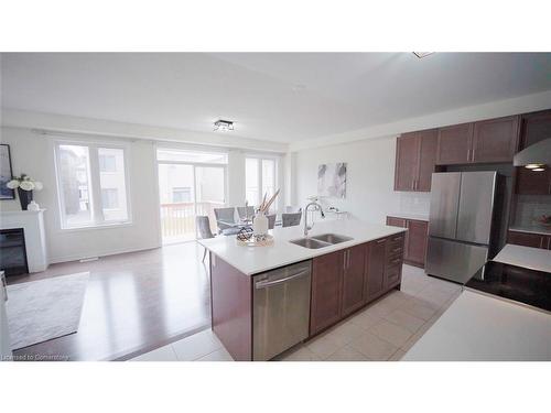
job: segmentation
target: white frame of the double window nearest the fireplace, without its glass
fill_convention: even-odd
[[[58,138],[54,139],[53,145],[54,145],[54,163],[55,163],[55,184],[57,189],[57,209],[60,217],[60,229],[62,231],[123,227],[133,225],[131,189],[130,189],[130,160],[128,156],[128,153],[130,151],[128,143],[114,143],[99,140],[90,141],[90,140]],[[63,188],[61,185],[61,170],[60,170],[61,145],[75,145],[75,146],[88,148],[88,172],[89,172],[88,193],[89,196],[91,197],[91,208],[90,208],[91,221],[88,224],[77,225],[77,226],[67,225],[67,218],[65,215],[65,199],[64,199]],[[101,171],[100,171],[99,154],[98,154],[98,149],[100,148],[122,150],[122,160],[125,163],[123,173],[125,173],[125,194],[127,200],[127,219],[120,219],[120,220],[105,219],[102,210],[104,208],[101,206],[101,184],[100,184]]]

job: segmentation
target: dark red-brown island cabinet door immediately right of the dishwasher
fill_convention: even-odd
[[[344,251],[313,259],[310,334],[314,335],[341,319]]]

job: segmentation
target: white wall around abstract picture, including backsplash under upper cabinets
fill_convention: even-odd
[[[396,137],[369,139],[339,145],[298,152],[295,198],[292,204],[304,206],[310,195],[317,194],[317,166],[323,163],[346,162],[346,198],[321,199],[325,207],[335,206],[355,218],[383,224],[391,213],[429,213],[429,195],[393,191]],[[293,191],[289,191],[291,194]]]

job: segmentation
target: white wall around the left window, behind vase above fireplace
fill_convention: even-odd
[[[53,137],[34,133],[30,129],[1,129],[2,143],[10,145],[13,174],[26,173],[44,184],[44,189],[35,192],[34,197],[41,207],[46,208],[45,229],[51,262],[159,247],[159,196],[154,144],[148,141],[133,141],[129,144],[132,225],[62,230],[53,140]],[[110,141],[106,138],[100,140]],[[0,207],[2,210],[21,209],[19,199],[2,200]]]

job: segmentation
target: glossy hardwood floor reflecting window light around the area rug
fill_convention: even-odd
[[[15,358],[127,359],[210,324],[208,260],[196,242],[51,265],[21,283],[89,271],[78,332],[14,351]]]

